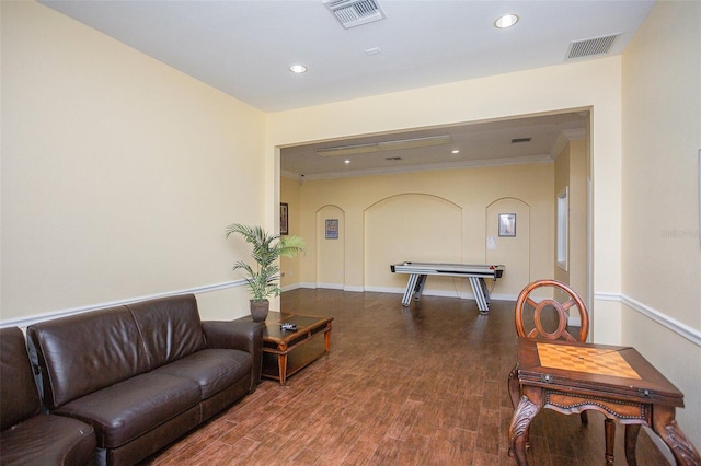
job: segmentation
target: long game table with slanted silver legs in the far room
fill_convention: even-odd
[[[504,266],[471,265],[471,264],[434,264],[434,263],[401,263],[390,266],[392,273],[409,273],[406,290],[402,298],[402,305],[409,306],[412,296],[418,301],[426,284],[426,277],[438,275],[446,277],[468,278],[480,313],[490,312],[490,291],[484,281],[502,278]]]

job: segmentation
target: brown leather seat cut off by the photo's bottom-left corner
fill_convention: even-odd
[[[0,464],[88,465],[95,454],[90,424],[41,411],[39,393],[18,327],[0,329]]]

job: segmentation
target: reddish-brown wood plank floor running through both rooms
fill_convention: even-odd
[[[336,290],[283,294],[283,312],[334,317],[331,353],[252,394],[149,462],[152,465],[512,465],[506,380],[514,303]],[[617,426],[616,464],[624,465]],[[604,465],[604,417],[543,410],[532,465]],[[665,457],[641,431],[637,464]]]

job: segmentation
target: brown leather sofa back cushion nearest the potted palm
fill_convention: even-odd
[[[139,328],[149,370],[206,348],[193,294],[159,298],[127,307]]]

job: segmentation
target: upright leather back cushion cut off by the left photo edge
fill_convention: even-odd
[[[24,334],[18,327],[0,329],[0,429],[37,415],[41,407]]]

